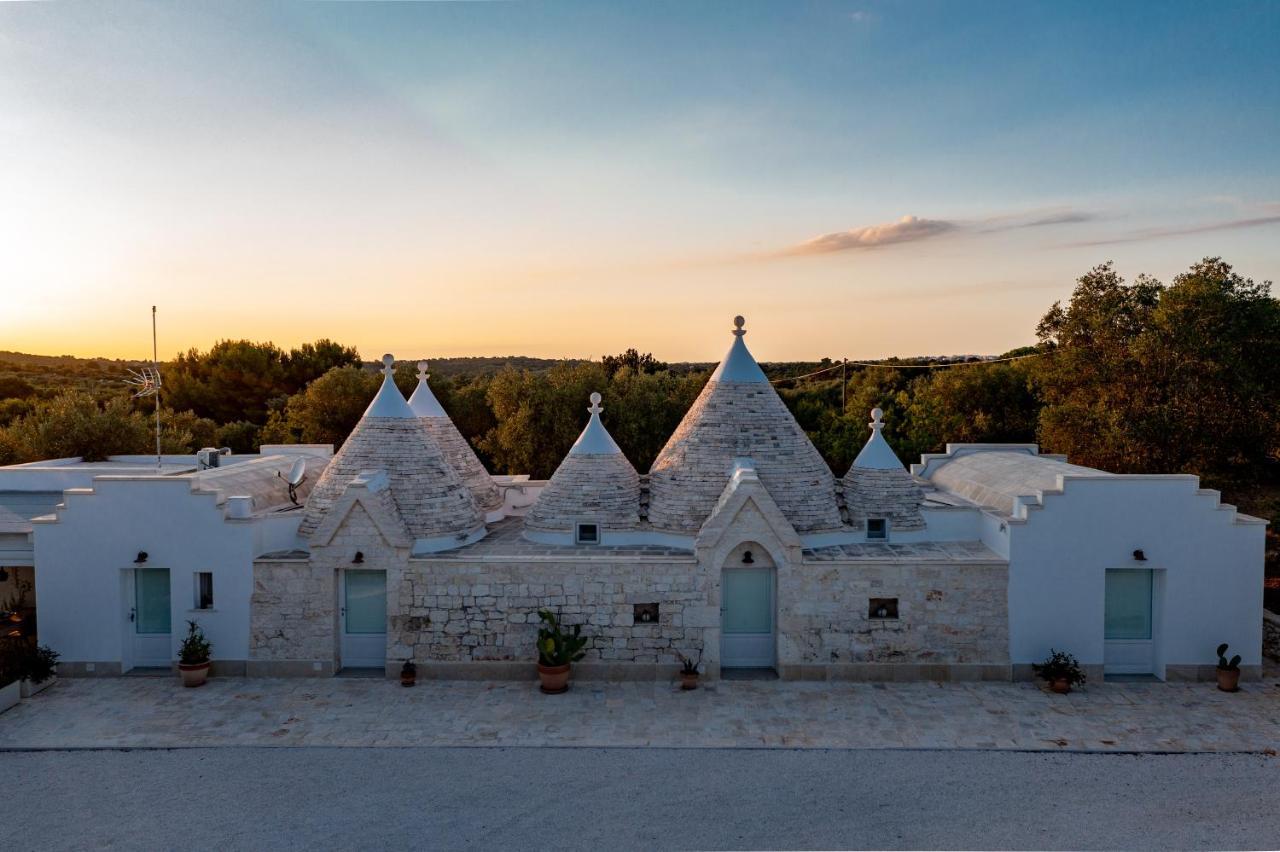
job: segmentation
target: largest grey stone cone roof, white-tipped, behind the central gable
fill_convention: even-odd
[[[733,344],[649,472],[649,522],[696,532],[733,472],[751,458],[769,495],[799,532],[838,530],[836,480],[742,342]]]

